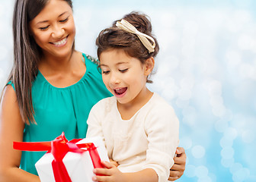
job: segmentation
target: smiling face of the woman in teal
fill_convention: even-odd
[[[30,21],[30,33],[44,55],[66,58],[75,39],[72,8],[63,0],[50,0]]]

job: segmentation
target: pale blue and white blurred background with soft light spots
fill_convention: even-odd
[[[0,0],[0,86],[12,65],[14,1]],[[187,165],[178,181],[256,181],[256,1],[74,0],[76,49],[130,11],[151,17],[152,91],[173,105]]]

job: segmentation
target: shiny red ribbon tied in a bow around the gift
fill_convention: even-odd
[[[13,148],[23,151],[47,151],[53,154],[53,174],[56,182],[72,182],[69,177],[68,171],[62,159],[65,157],[67,152],[76,152],[83,153],[88,151],[91,156],[92,164],[94,168],[104,168],[101,165],[101,158],[98,155],[97,148],[93,143],[78,143],[82,139],[74,139],[74,140],[66,140],[64,132],[56,137],[55,140],[51,142],[34,142],[34,143],[26,143],[26,142],[14,142]],[[86,149],[81,149],[86,148]]]

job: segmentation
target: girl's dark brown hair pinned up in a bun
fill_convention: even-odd
[[[155,36],[152,34],[151,22],[146,14],[133,11],[130,14],[124,15],[122,19],[136,27],[139,32],[152,36],[152,38],[155,39]],[[155,52],[149,53],[148,49],[146,49],[136,34],[121,30],[116,26],[117,21],[120,20],[115,20],[112,27],[102,30],[101,33],[99,33],[96,39],[99,61],[101,61],[101,53],[110,49],[121,49],[126,55],[138,58],[142,64],[144,64],[148,58],[155,58],[159,51],[157,40],[155,39]],[[147,80],[147,83],[152,83],[152,81]]]

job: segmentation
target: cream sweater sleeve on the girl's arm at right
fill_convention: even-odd
[[[146,119],[145,128],[149,147],[144,168],[154,169],[159,182],[167,181],[179,142],[179,122],[174,109],[170,105],[155,107]]]

